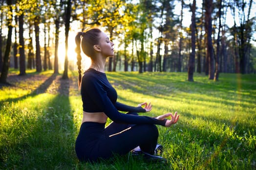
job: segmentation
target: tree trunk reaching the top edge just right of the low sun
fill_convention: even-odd
[[[68,79],[68,58],[67,58],[67,49],[68,49],[68,32],[70,26],[70,17],[71,17],[71,0],[67,0],[67,6],[65,9],[65,62],[64,62],[64,73],[62,78]]]

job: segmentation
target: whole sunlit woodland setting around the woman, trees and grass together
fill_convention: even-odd
[[[78,160],[75,36],[92,27],[118,101],[180,115],[158,126],[166,163]],[[255,0],[0,0],[0,35],[0,170],[256,170]]]

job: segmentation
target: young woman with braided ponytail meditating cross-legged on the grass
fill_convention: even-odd
[[[97,161],[113,154],[129,153],[137,146],[144,153],[154,154],[158,138],[155,124],[170,127],[179,119],[177,112],[151,118],[137,114],[149,112],[152,108],[150,103],[143,102],[132,107],[117,102],[116,90],[109,84],[105,74],[106,59],[114,55],[114,44],[97,28],[79,32],[75,40],[83,101],[83,120],[75,148],[78,159]],[[91,58],[91,66],[83,78],[81,49]],[[171,120],[167,117],[171,117]],[[113,122],[105,128],[107,118]]]

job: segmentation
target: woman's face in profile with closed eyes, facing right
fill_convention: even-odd
[[[112,43],[107,34],[101,32],[101,39],[99,42],[99,47],[101,48],[102,55],[106,57],[112,57],[114,56],[114,43]]]

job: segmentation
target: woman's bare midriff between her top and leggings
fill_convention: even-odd
[[[106,123],[107,121],[107,115],[105,115],[104,112],[95,112],[95,113],[89,113],[89,112],[83,112],[83,120],[82,123],[90,121],[90,122],[98,122],[98,123]]]

